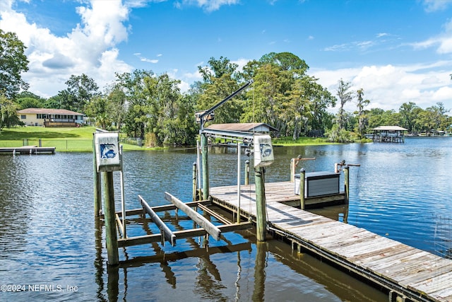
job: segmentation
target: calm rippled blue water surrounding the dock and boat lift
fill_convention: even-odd
[[[451,257],[452,138],[407,139],[405,144],[276,147],[266,181],[290,178],[290,158],[315,157],[309,171],[350,168],[350,207],[316,212]],[[237,151],[210,153],[210,185],[237,183]],[[242,156],[242,163],[246,160]],[[151,206],[167,191],[191,198],[193,150],[126,152],[127,209],[138,194]],[[252,177],[251,177],[252,180]],[[117,209],[119,176],[115,173]],[[342,182],[341,182],[342,183]],[[380,291],[276,240],[256,244],[254,233],[225,239],[180,240],[177,247],[141,245],[120,250],[126,265],[107,273],[105,234],[93,217],[90,153],[0,156],[0,301],[387,301]],[[192,228],[184,216],[162,213],[172,229]],[[128,236],[156,233],[129,219]],[[99,231],[100,230],[100,231]],[[14,286],[14,287],[13,287]],[[4,289],[4,288],[0,288]]]

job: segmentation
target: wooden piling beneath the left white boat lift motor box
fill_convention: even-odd
[[[119,264],[118,236],[116,231],[116,211],[114,209],[113,172],[102,172],[104,192],[105,239],[108,265]]]

